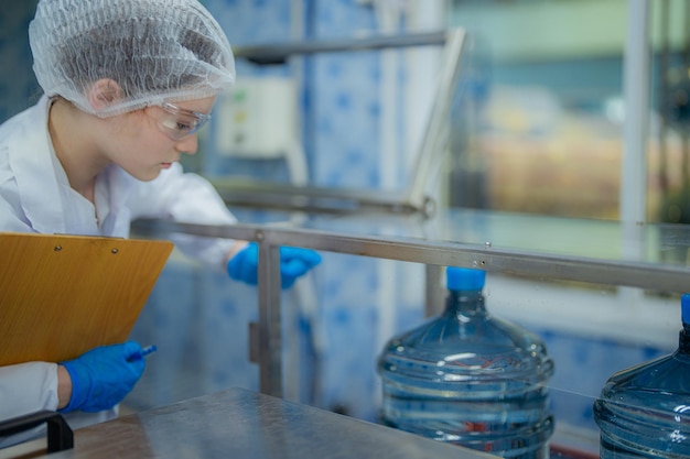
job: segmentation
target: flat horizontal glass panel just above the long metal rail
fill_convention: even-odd
[[[628,225],[451,208],[433,219],[366,214],[315,216],[300,226],[351,236],[390,236],[479,244],[493,249],[611,261],[689,265],[690,228],[682,225]]]

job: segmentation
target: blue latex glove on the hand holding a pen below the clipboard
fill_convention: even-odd
[[[110,409],[131,392],[145,367],[137,342],[101,346],[74,360],[61,362],[72,378],[72,398],[61,409],[68,413]],[[130,359],[130,360],[128,360]]]

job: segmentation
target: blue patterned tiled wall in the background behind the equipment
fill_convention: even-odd
[[[6,2],[0,10],[2,120],[37,99],[25,39],[34,4]],[[206,0],[205,4],[233,44],[284,41],[290,36],[290,0]],[[351,36],[376,26],[371,9],[356,0],[305,1],[304,22],[308,39]],[[267,70],[238,63],[240,78],[255,72]],[[312,182],[376,187],[381,111],[380,63],[376,54],[315,57],[304,62],[303,72],[305,86],[298,116],[303,120]],[[233,168],[233,164],[214,164]],[[250,218],[255,217],[259,218]],[[382,317],[395,324],[390,332],[422,320],[423,275],[419,270],[412,275],[400,264],[390,266],[373,259],[323,255],[323,264],[306,289],[285,294],[283,302],[289,318],[285,337],[302,352],[297,371],[302,382],[300,398],[375,419],[378,381],[374,368],[387,338],[379,331]],[[395,280],[387,295],[380,292],[382,270],[389,270]],[[310,295],[316,298],[315,304],[305,306],[303,300]],[[171,262],[132,334],[142,343],[157,343],[160,351],[149,359],[147,374],[129,403],[147,407],[233,385],[256,389],[257,369],[247,361],[247,324],[256,315],[255,288],[230,282],[222,272]],[[557,361],[554,386],[574,384],[583,394],[596,394],[613,371],[667,351],[585,340],[558,330],[537,331]],[[556,393],[557,416],[591,427],[591,400],[573,400],[567,391]]]

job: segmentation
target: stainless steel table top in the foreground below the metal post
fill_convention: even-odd
[[[18,457],[494,458],[242,389],[75,430],[67,451]]]

